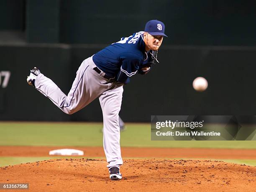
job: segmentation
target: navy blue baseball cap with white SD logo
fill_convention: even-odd
[[[160,20],[150,20],[146,23],[145,32],[148,32],[151,35],[166,36],[166,34],[164,34],[164,28],[164,23]]]

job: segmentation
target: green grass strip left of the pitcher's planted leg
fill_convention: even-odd
[[[0,145],[101,146],[100,124],[0,123]]]

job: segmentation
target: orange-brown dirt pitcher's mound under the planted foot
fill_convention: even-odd
[[[105,160],[54,159],[0,168],[0,183],[30,191],[255,191],[256,167],[210,160],[126,159],[123,179],[109,179]]]

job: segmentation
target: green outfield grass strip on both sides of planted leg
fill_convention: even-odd
[[[150,124],[127,123],[121,146],[256,148],[256,141],[151,141]],[[102,123],[0,122],[2,146],[102,146]]]

